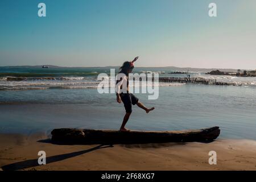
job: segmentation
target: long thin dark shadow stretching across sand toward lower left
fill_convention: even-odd
[[[94,150],[98,150],[101,148],[108,148],[108,147],[113,147],[111,144],[109,145],[105,145],[105,144],[100,144],[99,146],[90,148],[88,150],[82,150],[82,151],[77,151],[77,152],[71,152],[68,154],[60,154],[60,155],[54,155],[54,156],[50,156],[48,158],[46,158],[46,163],[54,163],[54,162],[58,162],[60,160],[64,160],[64,159],[69,159],[69,158],[73,158],[75,156],[79,156],[88,152],[92,152]],[[22,162],[18,162],[18,163],[13,163],[13,164],[7,164],[6,166],[2,166],[3,171],[14,171],[14,170],[20,170],[20,169],[25,169],[25,168],[31,168],[31,167],[36,167],[36,166],[40,166],[38,164],[38,159],[30,159],[30,160],[24,160]]]

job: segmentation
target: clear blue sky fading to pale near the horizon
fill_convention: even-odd
[[[255,0],[1,0],[0,66],[256,69],[255,22]]]

